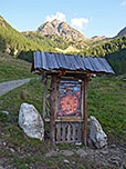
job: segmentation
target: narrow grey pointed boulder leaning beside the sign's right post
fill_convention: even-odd
[[[102,126],[94,116],[91,116],[90,138],[96,148],[103,148],[107,145],[107,136],[103,131]]]

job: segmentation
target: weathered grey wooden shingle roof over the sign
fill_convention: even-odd
[[[64,53],[49,53],[35,51],[32,63],[32,71],[35,70],[69,70],[114,73],[105,58],[81,57]]]

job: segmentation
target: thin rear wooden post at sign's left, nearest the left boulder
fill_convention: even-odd
[[[44,88],[43,88],[43,120],[45,119],[45,107],[46,107],[46,79],[44,81]]]

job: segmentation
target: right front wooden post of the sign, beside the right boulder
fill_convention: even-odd
[[[83,97],[83,141],[87,146],[87,79],[84,79],[84,97]]]

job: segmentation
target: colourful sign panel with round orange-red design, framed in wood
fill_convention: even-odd
[[[61,81],[59,87],[57,116],[81,116],[81,83]]]

